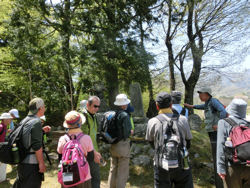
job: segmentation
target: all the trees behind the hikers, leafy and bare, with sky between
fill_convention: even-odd
[[[1,0],[0,9],[0,111],[24,116],[38,96],[54,124],[98,87],[111,108],[135,82],[149,108],[180,84],[193,104],[200,80],[249,52],[247,0]]]

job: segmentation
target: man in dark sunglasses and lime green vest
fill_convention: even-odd
[[[88,134],[94,145],[94,161],[88,161],[91,173],[91,185],[92,188],[100,188],[100,159],[101,154],[98,153],[98,145],[97,145],[97,118],[96,113],[100,108],[101,101],[97,96],[90,96],[87,101],[87,110],[83,111],[83,115],[86,117],[86,122],[82,126],[82,131],[85,134]]]

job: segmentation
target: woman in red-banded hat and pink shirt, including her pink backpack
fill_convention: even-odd
[[[62,154],[58,172],[62,187],[91,188],[87,161],[94,160],[94,147],[90,136],[81,131],[85,121],[85,117],[76,111],[65,116],[66,134],[60,137],[57,146],[57,152]]]

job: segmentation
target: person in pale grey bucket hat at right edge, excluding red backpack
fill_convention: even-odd
[[[243,99],[235,98],[231,101],[226,110],[229,117],[220,120],[218,123],[217,173],[222,178],[225,188],[250,187],[250,167],[248,165],[235,164],[229,159],[227,160],[225,154],[225,142],[230,138],[232,126],[235,124],[249,126],[250,122],[245,120],[247,103]],[[230,122],[233,123],[233,125],[231,125]],[[247,132],[248,130],[246,129],[245,131]],[[242,138],[238,136],[237,140],[241,141]],[[246,150],[249,150],[249,148],[246,148]],[[237,150],[237,152],[242,153],[242,150],[241,152]],[[236,156],[234,156],[234,158],[237,159]]]

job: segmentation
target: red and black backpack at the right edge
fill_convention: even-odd
[[[233,164],[250,165],[250,123],[237,124],[232,118],[224,119],[232,128],[229,131],[233,147],[225,147],[225,156]]]

